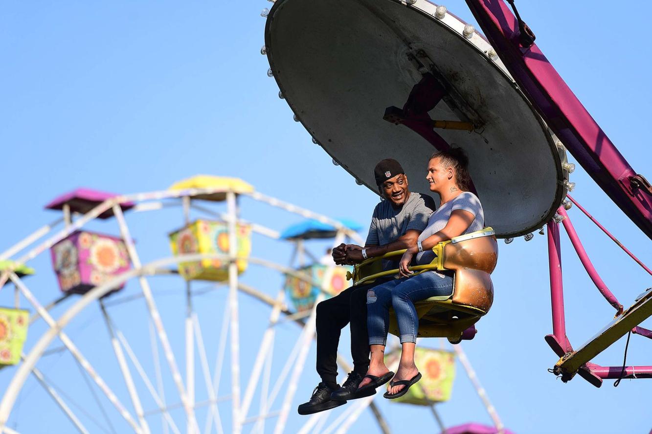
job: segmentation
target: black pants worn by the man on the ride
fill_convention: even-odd
[[[369,369],[369,336],[366,327],[366,291],[369,285],[352,286],[317,305],[317,373],[324,383],[337,382],[337,347],[340,332],[351,323],[353,370],[364,375]]]

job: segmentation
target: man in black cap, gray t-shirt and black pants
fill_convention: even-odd
[[[333,249],[333,259],[337,265],[353,265],[369,257],[408,248],[417,242],[421,231],[428,224],[428,217],[435,210],[435,203],[430,196],[409,192],[408,177],[396,160],[388,158],[379,162],[374,169],[374,177],[381,197],[385,200],[374,209],[364,248],[354,244],[340,244]],[[391,264],[386,264],[385,267],[391,268]],[[368,289],[389,279],[350,287],[317,305],[317,372],[321,383],[313,391],[310,401],[299,405],[299,414],[333,409],[344,405],[347,399],[363,398],[375,393],[374,390],[367,391],[366,395],[357,392],[369,367],[366,293]],[[353,371],[340,388],[336,383],[337,347],[340,331],[348,323],[351,324]]]

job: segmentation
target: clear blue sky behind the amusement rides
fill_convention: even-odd
[[[652,154],[645,145],[651,61],[647,29],[639,19],[652,14],[652,5],[630,1],[614,8],[606,1],[561,0],[517,4],[535,31],[537,44],[571,89],[634,169],[652,179]],[[367,224],[377,197],[333,166],[331,158],[310,141],[301,124],[292,121],[286,102],[278,98],[274,80],[265,74],[267,59],[259,54],[265,22],[259,13],[270,6],[263,0],[5,3],[0,14],[0,179],[4,186],[0,250],[53,220],[57,213],[43,206],[72,188],[146,192],[196,173],[240,177],[265,194]],[[463,1],[446,6],[473,22]],[[577,184],[574,197],[632,252],[652,264],[650,240],[581,168],[572,181]],[[298,220],[246,200],[243,212],[245,218],[274,229]],[[629,306],[652,285],[650,276],[578,210],[570,214],[604,282]],[[169,255],[166,233],[181,225],[181,216],[141,214],[130,224],[143,261],[149,261]],[[117,232],[112,222],[95,227]],[[580,345],[610,321],[613,310],[586,276],[570,244],[563,242],[567,332],[571,342]],[[288,248],[272,248],[261,240],[254,244],[253,254],[288,261]],[[494,307],[479,323],[476,339],[464,347],[505,426],[516,433],[647,433],[652,427],[652,381],[625,380],[618,388],[606,381],[596,389],[580,378],[563,384],[546,371],[556,356],[543,340],[552,332],[545,237],[535,235],[527,244],[523,239],[509,246],[501,243],[500,249]],[[57,297],[49,258],[42,255],[33,265],[38,276],[27,283],[37,297],[43,302]],[[252,270],[246,279],[270,295],[282,282],[280,276],[264,270]],[[183,284],[170,282],[160,280],[161,294],[172,291],[172,295],[157,300],[167,312],[166,323],[178,329],[171,335],[177,354],[182,354]],[[125,291],[137,290],[131,282]],[[223,298],[224,291],[215,291],[198,307],[207,340],[216,340],[221,311],[211,306],[221,306]],[[243,302],[244,311],[258,309],[260,315],[267,315],[247,303]],[[12,304],[10,287],[0,293],[0,304]],[[141,304],[112,312],[131,333],[132,344],[149,345]],[[134,317],[135,325],[130,322]],[[647,326],[652,328],[649,321]],[[42,326],[30,330],[27,348],[42,330]],[[282,330],[288,341],[297,336],[289,325]],[[122,379],[112,368],[113,354],[95,306],[74,321],[70,335],[98,364],[100,373],[103,367],[114,373],[107,379],[128,402]],[[258,341],[249,336],[245,330],[241,351],[252,360]],[[649,344],[632,336],[628,364],[652,364]],[[621,364],[624,346],[624,340],[618,341],[596,362]],[[346,347],[343,353],[347,354]],[[39,367],[55,383],[67,385],[71,394],[82,396],[88,411],[102,420],[70,357],[50,357]],[[293,402],[289,432],[300,422],[295,405],[307,399],[318,382],[310,370],[313,360],[314,349]],[[0,390],[13,371],[0,371]],[[459,366],[458,373],[451,401],[439,406],[443,419],[449,426],[471,420],[488,423]],[[199,373],[198,379],[200,384]],[[166,390],[172,391],[171,383]],[[49,432],[71,431],[33,380],[25,391],[10,426],[25,433],[43,432],[46,426]],[[379,405],[397,433],[437,431],[427,409]],[[175,417],[182,418],[178,413]],[[115,414],[111,418],[121,426]],[[411,421],[409,429],[406,420]],[[376,429],[365,413],[352,432],[369,424]],[[92,422],[87,426],[96,431]]]

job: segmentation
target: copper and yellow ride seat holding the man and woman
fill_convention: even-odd
[[[485,315],[494,302],[494,285],[490,274],[496,268],[498,244],[494,229],[486,227],[481,231],[460,235],[452,240],[439,242],[432,251],[436,257],[426,265],[409,267],[416,274],[426,271],[449,271],[453,273],[451,295],[430,297],[415,302],[419,315],[420,338],[448,338],[459,343],[467,329],[473,338],[473,325]],[[353,269],[356,285],[372,283],[384,276],[398,275],[398,269],[382,270],[382,259],[396,257],[405,250],[389,252],[381,257],[366,259]],[[398,336],[398,323],[394,310],[390,310],[391,334]]]

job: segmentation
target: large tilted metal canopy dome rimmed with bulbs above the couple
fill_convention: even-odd
[[[373,169],[383,158],[401,162],[411,191],[429,193],[426,164],[436,148],[383,113],[403,106],[424,72],[434,72],[451,97],[428,115],[475,125],[437,133],[467,152],[486,225],[499,237],[524,235],[548,222],[566,194],[563,146],[488,42],[445,8],[424,0],[277,0],[265,52],[297,119],[376,193]]]

